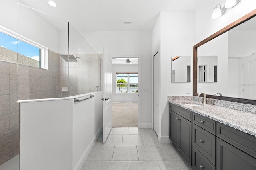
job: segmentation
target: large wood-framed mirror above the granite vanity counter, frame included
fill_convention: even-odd
[[[223,90],[224,91],[223,96],[216,96],[216,95],[214,95],[214,93],[218,93],[218,92],[221,91],[221,90],[219,91],[219,90],[217,90],[217,88],[215,88],[217,86],[219,86],[219,87],[226,86],[225,87],[226,89],[228,89],[230,91],[232,90],[232,88],[230,88],[229,84],[226,84],[226,82],[228,82],[228,80],[225,80],[225,78],[222,78],[222,79],[219,78],[219,75],[223,74],[224,72],[226,72],[226,73],[224,73],[224,74],[226,74],[226,79],[228,79],[228,77],[233,78],[232,75],[228,75],[228,68],[225,68],[226,70],[224,70],[223,72],[221,70],[223,67],[225,67],[225,66],[227,67],[227,65],[228,65],[228,63],[227,63],[228,62],[228,58],[230,58],[230,61],[232,61],[231,59],[235,59],[237,63],[240,63],[239,59],[245,60],[244,59],[245,55],[244,56],[241,55],[240,57],[238,57],[238,56],[234,57],[234,56],[230,55],[231,56],[230,57],[228,52],[227,52],[228,51],[227,48],[230,47],[230,45],[226,45],[225,47],[221,47],[221,48],[226,48],[224,50],[226,51],[227,56],[218,55],[218,57],[219,57],[218,58],[218,81],[216,81],[216,82],[215,81],[214,82],[204,82],[204,90],[201,91],[200,88],[198,89],[198,87],[200,86],[200,83],[201,83],[201,82],[198,82],[198,56],[201,56],[201,55],[205,55],[205,56],[206,55],[212,55],[212,53],[211,54],[202,54],[203,53],[202,51],[211,51],[213,49],[213,48],[211,48],[211,49],[207,49],[206,50],[204,47],[206,47],[206,46],[211,47],[209,44],[214,43],[214,41],[216,41],[216,42],[219,41],[218,39],[221,39],[220,35],[226,36],[226,38],[228,37],[228,35],[230,35],[229,37],[231,37],[231,35],[232,35],[231,31],[237,31],[238,30],[238,27],[237,27],[238,25],[241,25],[242,23],[246,23],[249,20],[250,21],[252,21],[252,20],[255,21],[255,23],[253,25],[254,25],[254,28],[255,28],[254,31],[255,31],[255,35],[256,35],[256,17],[255,16],[256,16],[256,10],[253,10],[252,12],[250,12],[250,13],[246,14],[245,16],[243,16],[242,18],[234,21],[233,23],[227,25],[226,27],[224,27],[220,31],[214,33],[213,35],[209,36],[208,38],[206,38],[203,41],[201,41],[201,42],[197,43],[196,45],[194,45],[194,47],[193,47],[193,95],[194,96],[197,96],[199,92],[204,92],[204,93],[206,93],[207,98],[214,98],[214,99],[218,99],[218,100],[226,100],[226,101],[240,102],[240,103],[245,103],[245,104],[256,105],[256,84],[255,83],[250,84],[250,83],[247,83],[247,82],[243,82],[243,80],[239,80],[237,82],[238,84],[235,84],[239,88],[237,90],[238,91],[237,94],[239,94],[239,95],[233,95],[231,93],[228,94],[228,92],[226,92],[225,90]],[[233,33],[233,35],[234,34],[235,33]],[[232,40],[234,40],[234,38]],[[228,42],[228,39],[225,39],[225,41]],[[215,42],[215,44],[217,44],[216,42]],[[236,41],[229,41],[229,42],[236,42]],[[240,43],[242,43],[242,42],[240,42]],[[200,47],[200,48],[198,49],[198,47]],[[240,47],[239,48],[236,48],[236,47],[234,48],[233,47],[233,49],[240,49]],[[215,55],[216,53],[218,53],[219,49],[218,48],[214,48],[214,50],[215,50],[215,53],[214,53],[214,55]],[[246,51],[246,49],[243,49],[243,51]],[[253,55],[253,57],[255,55],[255,57],[256,57],[256,54],[254,54],[254,53],[256,53],[256,52],[251,53],[251,55]],[[220,63],[222,64],[222,62],[219,60],[219,59],[222,59],[220,57],[226,57],[226,61],[223,62],[226,65],[224,65],[224,64],[220,65]],[[254,60],[254,61],[255,61],[254,64],[256,64],[256,60]],[[242,64],[242,67],[243,67],[243,64]],[[239,69],[236,69],[236,68],[234,69],[233,68],[233,71],[234,70],[236,70],[239,75],[241,74],[240,73],[241,68],[239,68]],[[252,71],[255,72],[255,81],[256,81],[256,69],[254,69]],[[247,75],[247,73],[246,74],[244,73],[244,75]],[[198,86],[198,84],[199,84],[199,86]],[[253,85],[253,89],[250,89],[248,91],[247,86],[249,87],[251,85]],[[209,90],[209,91],[206,90],[207,87],[208,87],[208,89],[214,89],[215,90],[214,93],[213,93],[213,90],[212,91],[211,90]],[[248,97],[248,95],[246,96],[246,95],[241,94],[242,92],[244,92],[246,90],[248,91],[247,94],[249,94],[249,95],[253,94],[254,96]]]

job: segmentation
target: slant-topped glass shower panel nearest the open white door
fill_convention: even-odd
[[[69,24],[70,96],[100,91],[100,61],[85,39]]]

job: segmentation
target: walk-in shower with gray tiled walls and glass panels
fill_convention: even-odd
[[[48,69],[38,68],[36,65],[31,66],[31,64],[27,66],[26,62],[36,62],[26,56],[0,47],[0,165],[19,154],[20,114],[18,100],[69,97],[100,91],[102,86],[102,55],[96,54],[70,23],[60,21],[60,19],[52,16],[38,15],[38,11],[35,12],[26,6],[18,6],[18,14],[26,14],[24,11],[29,11],[30,14],[31,12],[37,13],[34,14],[36,17],[44,18],[44,21],[57,33],[60,43],[55,45],[58,49],[47,49]],[[21,17],[21,15],[19,16]],[[21,23],[25,22],[24,20],[18,18]],[[53,20],[54,22],[51,23]],[[66,29],[56,27],[54,25],[56,22],[62,22]],[[18,31],[14,31],[27,38],[34,38],[33,35],[22,29],[24,27],[22,24],[17,23],[17,25]],[[70,32],[68,33],[67,30]],[[46,37],[50,36],[47,32],[41,31],[39,33]],[[69,41],[66,38],[68,35]],[[51,39],[52,37],[49,37],[49,41]],[[47,47],[48,43],[51,44],[51,42],[46,42],[43,45]],[[77,59],[73,62],[67,62],[62,58],[62,54],[72,54]],[[27,61],[22,63],[23,59]]]

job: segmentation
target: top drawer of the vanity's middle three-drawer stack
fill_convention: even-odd
[[[192,122],[202,127],[206,131],[214,135],[216,134],[216,124],[214,120],[192,112]]]

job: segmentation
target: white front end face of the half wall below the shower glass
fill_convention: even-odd
[[[20,103],[20,170],[72,169],[73,100]]]

